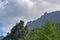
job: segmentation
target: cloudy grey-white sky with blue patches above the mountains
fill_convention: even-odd
[[[6,36],[20,20],[26,24],[45,12],[59,10],[60,0],[0,0],[0,36]]]

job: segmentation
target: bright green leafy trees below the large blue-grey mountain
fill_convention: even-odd
[[[34,28],[26,36],[25,40],[60,40],[58,25],[47,20],[43,27]]]

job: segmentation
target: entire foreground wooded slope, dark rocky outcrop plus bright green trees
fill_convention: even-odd
[[[43,26],[29,29],[21,20],[3,40],[60,40],[60,23],[47,20]]]

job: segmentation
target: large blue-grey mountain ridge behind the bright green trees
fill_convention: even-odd
[[[46,20],[51,20],[53,22],[60,22],[60,11],[54,11],[47,13],[45,12],[40,18],[34,21],[30,21],[27,23],[27,26],[30,28],[35,28],[36,26],[41,26]]]

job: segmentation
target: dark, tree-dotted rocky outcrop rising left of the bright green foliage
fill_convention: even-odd
[[[26,35],[26,30],[24,29],[24,21],[21,20],[19,23],[12,28],[11,33],[8,34],[4,40],[19,40],[23,39]]]

